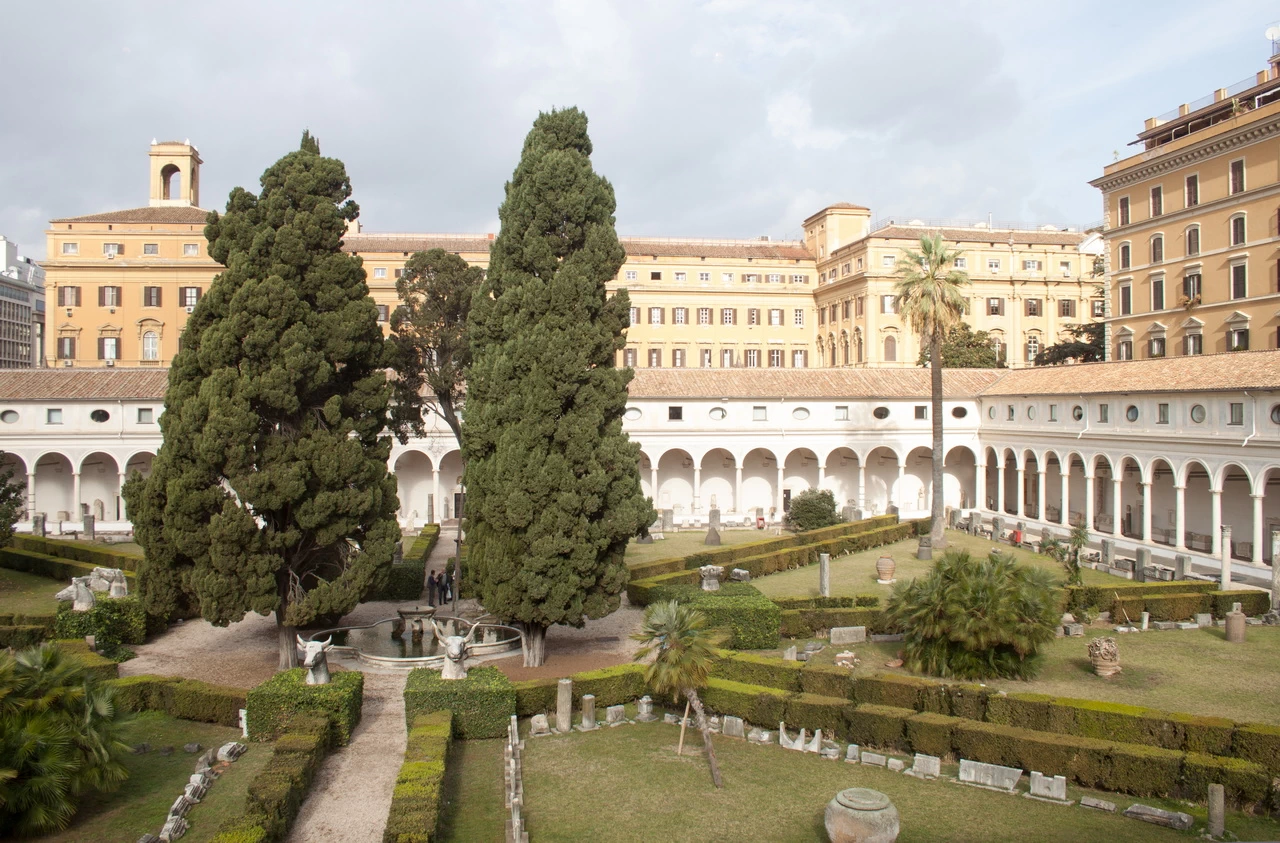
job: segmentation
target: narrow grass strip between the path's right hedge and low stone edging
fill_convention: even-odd
[[[502,843],[507,828],[502,747],[500,739],[453,743],[444,771],[440,840]]]

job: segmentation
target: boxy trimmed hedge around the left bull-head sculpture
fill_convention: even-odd
[[[291,720],[300,715],[320,715],[332,723],[337,746],[346,746],[360,723],[365,700],[365,674],[338,670],[329,684],[306,684],[306,668],[282,670],[248,692],[248,733],[253,741],[273,741],[293,730]]]

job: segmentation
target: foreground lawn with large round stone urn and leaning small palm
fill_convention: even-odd
[[[1119,815],[1036,802],[952,782],[922,782],[881,768],[827,761],[778,746],[717,737],[724,788],[710,782],[701,742],[662,723],[530,739],[525,745],[525,815],[535,840],[826,840],[823,810],[838,791],[868,787],[888,794],[901,815],[901,843],[913,840],[1187,840]],[[951,774],[954,775],[954,766]],[[943,770],[946,773],[946,769]],[[1023,789],[1027,780],[1023,779]],[[1071,788],[1071,798],[1079,797]],[[1098,794],[1120,810],[1134,800]],[[1197,808],[1143,800],[1147,805]],[[1203,829],[1203,810],[1198,811]],[[1280,824],[1228,816],[1242,840],[1280,839]]]

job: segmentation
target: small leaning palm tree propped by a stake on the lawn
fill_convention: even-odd
[[[689,706],[694,707],[698,728],[703,733],[703,747],[707,750],[707,764],[712,769],[712,782],[722,788],[719,765],[716,762],[716,747],[712,746],[712,730],[707,723],[707,711],[698,696],[698,688],[707,686],[707,677],[716,656],[710,638],[707,634],[707,615],[690,605],[676,603],[654,603],[644,613],[640,632],[631,636],[644,646],[636,651],[636,661],[648,659],[649,669],[645,681],[658,693],[671,692],[673,700],[685,695],[685,719],[680,724],[680,746],[685,743],[685,720],[689,719]]]

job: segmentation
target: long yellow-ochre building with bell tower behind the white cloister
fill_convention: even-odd
[[[187,142],[152,143],[145,207],[58,219],[47,232],[46,363],[161,366],[221,266],[207,255],[200,166]],[[641,368],[913,366],[918,342],[886,298],[901,249],[933,230],[872,224],[840,203],[809,217],[804,240],[623,237],[631,327],[618,363]],[[970,320],[1023,352],[1101,312],[1088,238],[1074,232],[942,229],[974,279]],[[365,267],[379,320],[413,252],[443,248],[488,267],[493,234],[365,233],[343,248]],[[992,269],[993,267],[993,269]],[[1027,269],[1032,267],[1032,269]],[[887,310],[886,310],[887,308]],[[1036,345],[1036,344],[1039,345]]]

